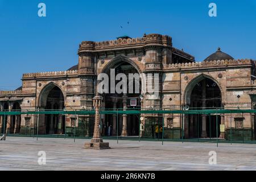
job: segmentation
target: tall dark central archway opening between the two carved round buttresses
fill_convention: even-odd
[[[115,76],[118,73],[123,73],[126,75],[127,79],[129,78],[129,73],[137,74],[140,76],[141,71],[137,67],[137,65],[127,59],[124,56],[118,56],[109,64],[106,65],[104,69],[102,69],[102,73],[106,73],[110,78],[110,69],[115,70]],[[129,83],[130,81],[130,83]],[[117,84],[119,81],[115,81]],[[108,110],[116,110],[116,109],[141,109],[140,105],[140,93],[141,93],[141,81],[139,81],[139,92],[135,92],[135,80],[131,82],[131,80],[127,80],[127,89],[129,88],[129,84],[133,84],[133,92],[129,93],[127,90],[127,94],[124,93],[104,93],[102,94],[103,105],[105,109]],[[110,85],[110,79],[109,79]],[[134,103],[132,103],[134,102]],[[118,121],[117,121],[118,119]],[[103,130],[102,135],[104,136],[116,136],[121,135],[125,136],[138,136],[139,135],[139,117],[136,114],[123,114],[117,115],[115,114],[105,114],[104,118],[101,118]],[[126,125],[127,123],[127,125]]]

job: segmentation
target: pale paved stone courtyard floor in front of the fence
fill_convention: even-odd
[[[0,170],[256,170],[256,144],[104,140],[110,150],[85,150],[86,139],[6,137]],[[46,165],[39,165],[39,151]],[[217,164],[209,164],[216,151]]]

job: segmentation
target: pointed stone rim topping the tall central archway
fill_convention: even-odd
[[[105,65],[105,67],[102,69],[101,73],[106,73],[109,71],[110,68],[115,68],[115,67],[118,67],[119,64],[122,64],[122,62],[126,62],[126,63],[129,63],[131,64],[136,70],[137,72],[139,73],[139,75],[141,75],[142,71],[141,69],[139,68],[139,66],[134,63],[133,60],[127,58],[126,56],[122,56],[122,55],[119,55],[117,57],[114,57],[112,60],[109,61],[108,64]],[[119,63],[119,64],[118,64]]]

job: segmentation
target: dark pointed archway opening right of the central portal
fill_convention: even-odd
[[[189,85],[186,102],[190,110],[216,109],[222,107],[221,89],[210,77],[201,76]],[[216,138],[220,136],[220,114],[185,115],[186,138]]]

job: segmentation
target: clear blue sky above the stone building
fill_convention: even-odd
[[[40,2],[46,3],[46,18],[38,16]],[[210,2],[217,4],[216,18],[208,15]],[[235,59],[256,60],[255,0],[0,0],[0,25],[1,90],[19,87],[22,73],[64,71],[77,64],[82,40],[124,34],[170,35],[175,47],[197,61],[217,47]]]

